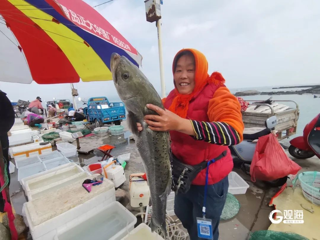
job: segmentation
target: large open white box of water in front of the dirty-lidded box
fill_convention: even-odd
[[[77,219],[67,228],[59,229],[55,240],[108,239],[120,240],[132,231],[137,218],[119,202],[96,208]]]

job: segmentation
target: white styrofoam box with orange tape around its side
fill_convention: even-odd
[[[39,143],[32,143],[12,148],[13,157],[16,160],[20,157],[28,157],[32,155],[40,155],[45,152],[52,152],[51,143],[47,145],[40,145]],[[28,156],[27,156],[28,155]]]

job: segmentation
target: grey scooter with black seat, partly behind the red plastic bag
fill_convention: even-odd
[[[268,135],[271,130],[275,128],[276,124],[276,116],[271,116],[265,121],[265,125],[267,127],[266,129],[253,134],[243,134],[244,140],[241,143],[229,147],[235,167],[238,166],[244,170],[245,173],[250,174],[250,165],[252,163],[253,154],[257,145],[252,141],[258,139],[259,137]],[[280,187],[287,182],[287,178],[288,177],[285,176],[283,178],[267,182],[272,187]]]

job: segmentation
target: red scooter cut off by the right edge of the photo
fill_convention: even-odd
[[[289,153],[299,159],[320,158],[320,114],[303,129],[303,136],[290,141]]]

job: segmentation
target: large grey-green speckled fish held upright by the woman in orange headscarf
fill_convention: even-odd
[[[169,133],[152,131],[143,121],[145,115],[157,115],[146,104],[162,109],[164,106],[147,77],[126,57],[113,53],[110,66],[116,90],[128,111],[129,128],[136,135],[136,145],[147,174],[152,202],[151,230],[153,232],[160,228],[166,236],[165,210],[167,196],[171,191]],[[141,132],[138,131],[137,123],[142,124]]]

